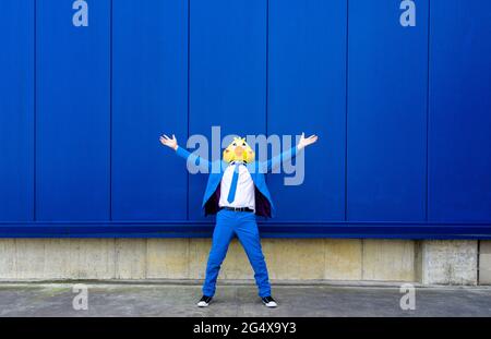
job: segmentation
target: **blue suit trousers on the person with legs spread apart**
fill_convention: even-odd
[[[239,238],[246,250],[249,262],[254,269],[255,283],[261,298],[271,295],[271,286],[267,277],[267,267],[264,262],[261,240],[255,222],[255,215],[250,211],[232,211],[221,209],[216,216],[216,226],[213,232],[212,250],[206,265],[206,278],[203,284],[203,294],[215,294],[216,279],[221,263],[227,255],[228,245],[233,235]]]

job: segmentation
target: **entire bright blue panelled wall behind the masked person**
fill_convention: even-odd
[[[488,1],[87,3],[1,2],[0,237],[208,237],[212,126],[320,135],[267,237],[491,237]]]

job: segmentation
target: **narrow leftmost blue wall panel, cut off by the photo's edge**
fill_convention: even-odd
[[[33,219],[34,1],[0,7],[0,221]]]

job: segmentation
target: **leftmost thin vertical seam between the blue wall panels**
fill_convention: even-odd
[[[33,76],[33,220],[36,221],[37,216],[36,216],[36,195],[37,195],[37,190],[36,190],[36,185],[37,185],[37,166],[36,166],[36,161],[37,161],[37,152],[36,152],[36,147],[37,147],[37,0],[34,0],[34,23],[33,23],[33,31],[34,31],[34,36],[33,36],[33,64],[34,64],[34,76]]]

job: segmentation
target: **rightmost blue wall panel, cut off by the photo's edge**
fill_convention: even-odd
[[[429,218],[491,221],[489,1],[431,1]]]

